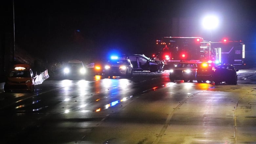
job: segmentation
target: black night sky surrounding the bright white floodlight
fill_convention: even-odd
[[[15,40],[45,58],[82,59],[113,49],[149,54],[156,39],[174,36],[172,18],[193,19],[196,32],[186,36],[209,39],[201,19],[213,13],[220,24],[212,37],[242,39],[255,51],[255,7],[254,0],[14,0]]]

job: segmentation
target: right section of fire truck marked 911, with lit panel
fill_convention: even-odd
[[[219,42],[201,42],[201,61],[214,61],[235,66],[245,65],[245,44],[242,40],[230,41],[223,39]]]

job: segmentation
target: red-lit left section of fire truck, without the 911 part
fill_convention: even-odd
[[[163,37],[157,40],[157,54],[154,59],[162,60],[165,66],[172,67],[183,60],[200,61],[202,37]]]

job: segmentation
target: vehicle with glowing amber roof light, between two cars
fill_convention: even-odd
[[[215,63],[203,62],[198,65],[196,79],[198,83],[204,83],[207,80],[213,82]]]

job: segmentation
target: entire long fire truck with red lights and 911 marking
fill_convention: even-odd
[[[184,60],[244,65],[245,44],[241,40],[211,42],[202,37],[163,37],[156,44],[159,52],[153,57],[164,62],[164,69]]]

